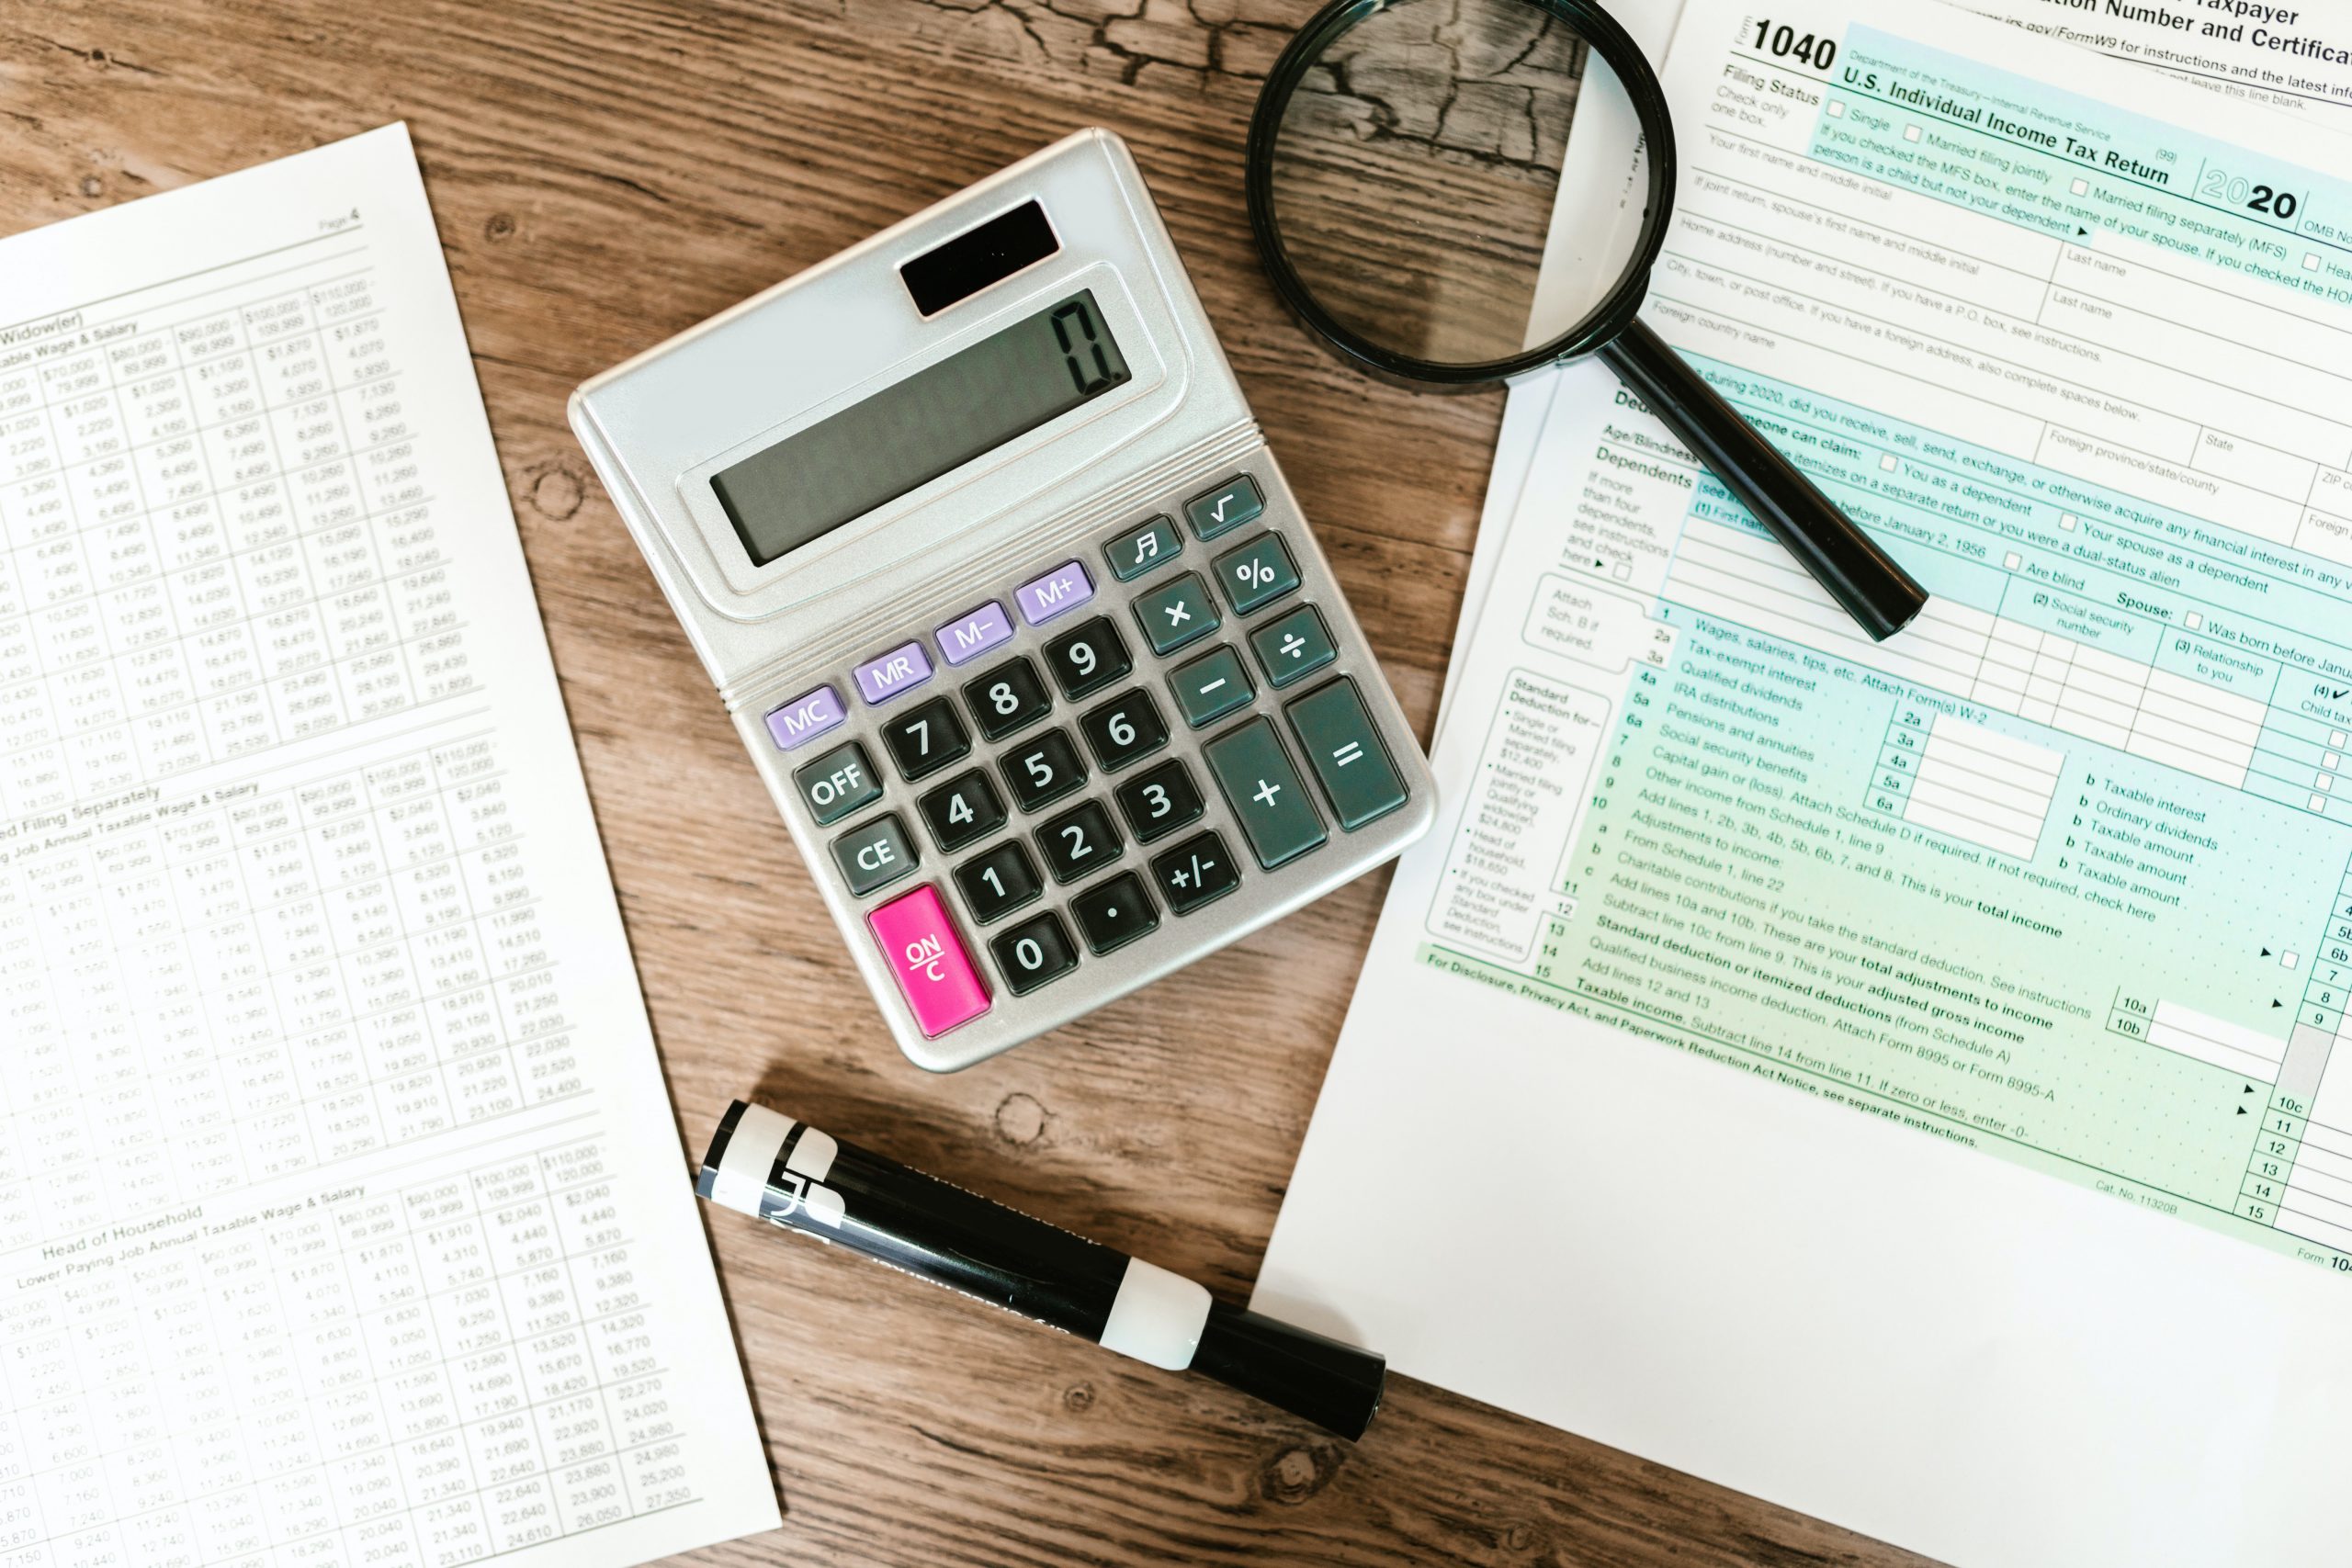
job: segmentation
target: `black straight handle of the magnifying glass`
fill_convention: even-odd
[[[1755,425],[1691,369],[1642,317],[1599,348],[1599,357],[1649,411],[1715,470],[1813,581],[1846,607],[1875,642],[1886,642],[1926,604],[1926,588],[1813,489]]]

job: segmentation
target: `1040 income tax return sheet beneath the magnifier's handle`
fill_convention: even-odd
[[[1256,1305],[1959,1563],[2340,1561],[2352,155],[1764,19],[1649,315],[1938,597],[1564,374]]]

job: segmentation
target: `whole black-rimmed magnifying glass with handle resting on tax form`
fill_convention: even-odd
[[[1437,388],[1599,355],[1886,639],[1926,590],[1637,315],[1672,200],[1665,92],[1588,0],[1334,0],[1249,122],[1258,254],[1331,348]],[[1571,266],[1545,273],[1555,226]]]

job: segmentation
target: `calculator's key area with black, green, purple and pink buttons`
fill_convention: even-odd
[[[927,1037],[1171,926],[1214,940],[1185,917],[1409,802],[1291,538],[1230,475],[764,715],[797,750],[873,710],[790,778]],[[906,696],[934,656],[953,684]]]

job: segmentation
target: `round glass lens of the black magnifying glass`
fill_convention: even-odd
[[[1573,339],[1635,268],[1646,195],[1609,63],[1529,0],[1362,9],[1270,146],[1272,228],[1315,306],[1437,367]]]

